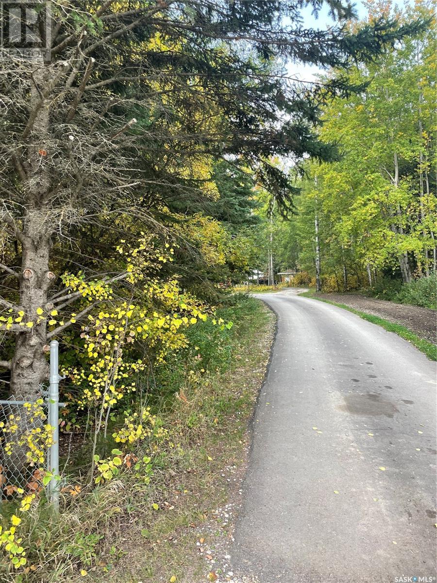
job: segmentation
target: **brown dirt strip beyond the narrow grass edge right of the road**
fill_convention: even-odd
[[[394,324],[406,326],[420,338],[437,342],[436,312],[415,305],[395,304],[392,301],[376,300],[359,294],[318,293],[315,297],[345,304],[355,310],[385,318]]]

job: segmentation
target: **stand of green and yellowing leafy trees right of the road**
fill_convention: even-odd
[[[416,3],[399,16],[426,17],[429,10]],[[384,11],[390,5],[378,3],[369,14]],[[316,287],[318,278],[319,291],[361,289],[436,307],[435,67],[429,29],[377,62],[320,77],[348,74],[368,86],[322,107],[320,139],[337,144],[340,160],[305,161],[298,175],[290,168],[299,186],[292,213],[284,221],[273,212],[266,227],[274,271],[301,272],[297,285]]]

